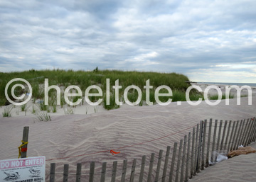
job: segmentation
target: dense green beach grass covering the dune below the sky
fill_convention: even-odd
[[[127,86],[135,85],[138,86],[142,90],[142,101],[139,103],[139,106],[145,105],[146,101],[146,90],[144,89],[144,85],[146,85],[146,80],[149,79],[150,85],[153,86],[153,89],[150,89],[149,98],[150,101],[156,103],[154,98],[154,90],[161,85],[166,85],[171,88],[173,91],[172,97],[162,96],[159,98],[160,101],[166,102],[169,98],[172,98],[173,101],[186,101],[186,89],[191,84],[188,83],[189,79],[187,76],[183,74],[176,74],[176,73],[158,73],[158,72],[124,72],[119,70],[99,70],[95,69],[92,72],[85,72],[85,71],[74,71],[74,70],[63,70],[63,69],[53,69],[53,70],[28,70],[25,72],[9,72],[3,73],[0,72],[0,104],[4,105],[6,98],[4,94],[4,89],[8,81],[11,79],[22,78],[26,79],[33,88],[33,95],[32,101],[36,99],[43,99],[44,98],[44,89],[43,84],[44,80],[48,79],[49,86],[57,85],[63,86],[64,89],[70,85],[79,86],[82,90],[82,96],[85,95],[85,89],[91,85],[100,86],[102,92],[104,94],[102,105],[105,109],[110,110],[114,108],[119,108],[114,103],[114,86],[115,81],[119,80],[119,86],[122,86],[122,89],[119,89],[119,100],[123,100],[122,96],[124,93],[124,89]],[[106,79],[110,79],[110,105],[107,106],[105,101],[105,93],[106,93]],[[11,84],[18,84],[18,81]],[[21,82],[21,84],[23,84]],[[11,97],[11,86],[9,86],[9,96]],[[96,90],[92,89],[90,93],[95,92]],[[21,87],[16,87],[15,91],[16,96],[20,96],[26,91],[23,91]],[[166,93],[166,89],[161,89],[160,93]],[[50,98],[56,98],[56,91],[55,89],[50,89],[49,93],[49,100]],[[128,93],[129,101],[134,102],[137,100],[138,93],[134,91],[134,89],[130,89]],[[197,91],[191,91],[191,101],[198,101],[198,98],[203,98],[201,93]],[[90,97],[91,101],[97,101],[100,97]],[[11,98],[14,99],[14,98]],[[53,99],[54,100],[54,99]],[[78,97],[70,98],[70,101],[77,101]],[[54,107],[56,103],[50,102],[49,105]],[[42,105],[42,104],[41,104]],[[63,93],[61,96],[61,106],[65,105],[65,101],[63,101]],[[40,110],[47,110],[47,107],[40,106]]]

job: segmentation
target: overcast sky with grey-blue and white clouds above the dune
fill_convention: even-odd
[[[0,72],[122,69],[256,83],[255,0],[0,1]]]

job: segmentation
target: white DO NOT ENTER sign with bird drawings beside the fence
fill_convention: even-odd
[[[46,157],[28,157],[0,161],[0,181],[45,182]]]

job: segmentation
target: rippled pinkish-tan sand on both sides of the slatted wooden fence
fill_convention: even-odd
[[[75,174],[75,166],[79,162],[88,170],[90,161],[95,161],[96,173],[100,173],[102,161],[107,161],[107,168],[112,169],[112,162],[117,160],[118,169],[122,169],[122,160],[127,159],[130,168],[132,159],[137,158],[139,164],[142,155],[146,155],[148,163],[152,152],[157,156],[159,149],[165,151],[166,146],[173,146],[174,142],[178,142],[190,131],[186,128],[193,127],[200,120],[242,120],[255,117],[256,97],[252,97],[252,106],[248,106],[247,100],[246,97],[241,98],[240,106],[236,104],[235,98],[230,99],[228,106],[224,100],[217,106],[209,106],[205,101],[198,106],[186,102],[181,102],[180,106],[177,103],[169,106],[124,106],[90,115],[53,115],[52,121],[48,122],[39,122],[29,115],[0,118],[0,159],[18,157],[17,147],[21,144],[23,127],[29,126],[28,157],[46,156],[47,174],[50,163],[55,162],[56,173],[60,174],[57,176],[58,181],[62,180],[63,164],[70,164],[70,174]],[[172,133],[174,135],[164,137]],[[161,139],[155,140],[158,138]],[[112,155],[111,149],[120,153]],[[215,170],[220,168],[223,176],[216,177],[217,181],[255,181],[252,175],[255,174],[254,161],[256,154],[234,157],[210,166],[193,180],[214,181],[208,176],[215,176]],[[234,170],[230,169],[230,165],[235,166]],[[225,175],[228,171],[233,175]],[[111,175],[111,170],[108,173]],[[134,181],[137,181],[137,177]]]

